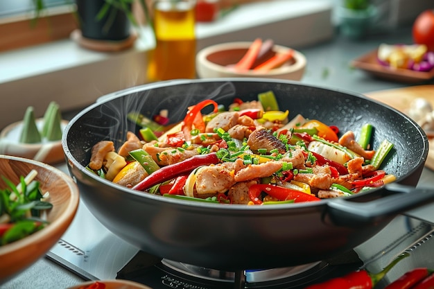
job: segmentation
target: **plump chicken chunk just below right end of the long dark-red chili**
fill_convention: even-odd
[[[234,175],[243,168],[242,159],[234,162],[205,166],[196,173],[196,194],[200,198],[207,198],[218,193],[225,193],[236,183]]]

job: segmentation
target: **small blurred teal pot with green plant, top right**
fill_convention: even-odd
[[[341,1],[336,11],[340,32],[353,39],[365,37],[376,17],[376,7],[371,0]]]

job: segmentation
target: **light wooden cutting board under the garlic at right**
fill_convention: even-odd
[[[418,85],[398,89],[386,89],[365,93],[365,96],[381,101],[406,113],[411,101],[415,98],[425,98],[434,107],[434,85]],[[434,138],[430,138],[430,150],[425,166],[434,170]]]

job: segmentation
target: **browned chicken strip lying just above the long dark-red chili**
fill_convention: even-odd
[[[146,143],[143,149],[153,157],[159,166],[168,166],[169,164],[179,163],[184,159],[198,155],[199,152],[192,146],[191,150],[177,150],[177,148],[163,147],[159,148],[153,144]]]

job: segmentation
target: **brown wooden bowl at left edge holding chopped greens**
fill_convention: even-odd
[[[31,170],[43,192],[49,191],[53,208],[47,213],[49,225],[14,243],[0,247],[0,284],[25,270],[55,245],[71,224],[78,209],[78,187],[73,179],[58,168],[31,159],[0,155],[0,175],[19,183],[19,177]],[[0,178],[0,188],[7,185]]]

